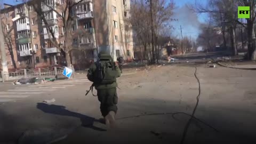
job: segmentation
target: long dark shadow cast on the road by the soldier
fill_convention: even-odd
[[[99,127],[93,126],[94,122],[99,122],[98,119],[95,119],[93,117],[89,117],[89,116],[86,116],[83,114],[75,113],[73,111],[69,111],[66,109],[65,106],[47,105],[46,103],[37,103],[37,108],[44,111],[44,113],[61,115],[61,116],[77,117],[77,118],[80,118],[81,123],[82,123],[81,125],[84,127],[88,127],[88,128],[91,128],[91,129],[97,130],[97,131],[106,131]]]

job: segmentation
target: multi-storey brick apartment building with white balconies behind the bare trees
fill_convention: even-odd
[[[77,1],[78,0],[74,0]],[[45,19],[54,31],[59,46],[66,43],[67,30],[63,27],[60,15],[65,7],[65,0],[47,0],[41,4]],[[49,7],[52,8],[54,11]],[[65,52],[57,49],[47,34],[44,22],[38,17],[33,6],[23,3],[4,5],[1,20],[4,34],[10,41],[6,47],[12,47],[17,68],[47,67],[65,65]],[[110,53],[114,60],[124,57],[133,59],[132,30],[127,29],[126,18],[129,18],[130,0],[84,0],[77,4],[71,13],[76,18],[71,29],[73,50],[71,61],[74,65],[85,65],[87,60],[97,60],[98,52]],[[6,49],[8,67],[13,68],[10,49]],[[34,63],[35,61],[35,63]]]

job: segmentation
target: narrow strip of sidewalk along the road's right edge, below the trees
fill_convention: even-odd
[[[235,69],[256,69],[256,62],[218,62],[222,67]]]

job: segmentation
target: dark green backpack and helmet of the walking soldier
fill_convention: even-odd
[[[113,84],[116,82],[117,71],[115,63],[109,54],[101,54],[96,66],[94,83]]]

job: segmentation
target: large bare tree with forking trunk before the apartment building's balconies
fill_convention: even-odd
[[[61,6],[54,3],[53,0],[51,0],[50,3],[47,0],[30,1],[30,4],[34,7],[38,17],[44,23],[51,43],[57,47],[57,49],[62,49],[65,52],[68,66],[72,64],[71,51],[81,50],[79,47],[73,47],[73,44],[76,43],[73,41],[73,39],[74,37],[77,39],[77,33],[74,33],[72,29],[74,29],[73,26],[75,25],[77,19],[77,15],[74,13],[76,6],[83,1],[84,0],[63,0],[63,5]],[[44,9],[47,9],[48,11],[45,12]],[[66,31],[64,35],[65,43],[63,43],[63,47],[61,47],[60,43],[58,42],[58,38],[55,37],[57,29],[52,28],[52,26],[50,26],[50,21],[48,21],[45,17],[50,12],[55,12],[57,14],[60,22],[63,24],[63,29]],[[84,36],[84,34],[81,35]]]

